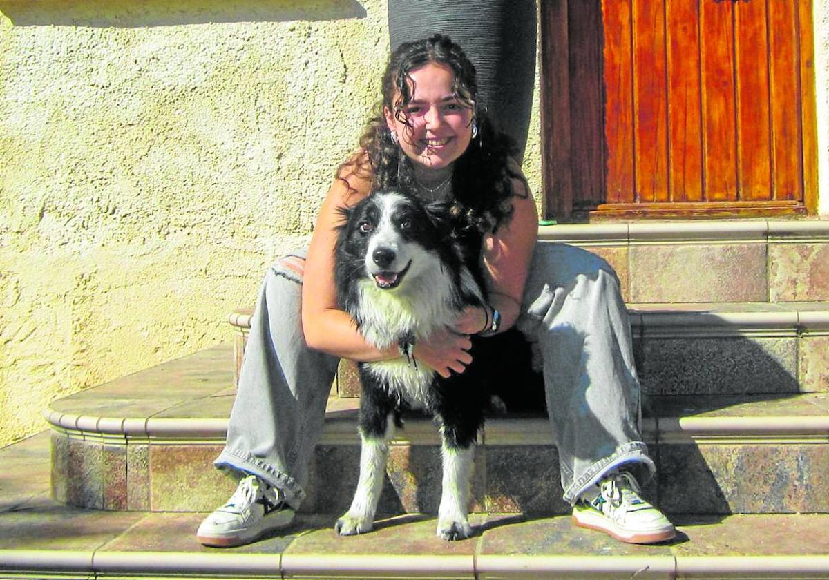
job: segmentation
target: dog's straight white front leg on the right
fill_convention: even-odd
[[[441,452],[444,460],[444,481],[438,510],[437,534],[449,541],[468,538],[472,535],[467,510],[475,444],[469,443],[466,447],[447,444],[444,433]]]

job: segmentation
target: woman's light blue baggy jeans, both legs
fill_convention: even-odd
[[[227,442],[214,464],[262,477],[298,508],[338,359],[305,344],[302,279],[291,261],[276,263],[260,289]],[[652,475],[628,312],[613,268],[583,249],[539,242],[517,327],[543,361],[564,499],[573,504],[623,463],[640,478]]]

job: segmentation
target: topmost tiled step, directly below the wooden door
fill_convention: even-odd
[[[829,220],[553,225],[539,238],[607,259],[627,302],[829,300]]]

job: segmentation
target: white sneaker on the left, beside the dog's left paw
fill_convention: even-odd
[[[257,476],[246,476],[230,500],[201,522],[196,539],[221,548],[249,544],[271,529],[290,524],[293,513],[279,489]]]

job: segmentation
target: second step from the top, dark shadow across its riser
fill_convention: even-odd
[[[634,355],[647,394],[829,391],[829,302],[628,304]],[[238,366],[250,311],[230,316]],[[358,396],[348,363],[341,396]]]

